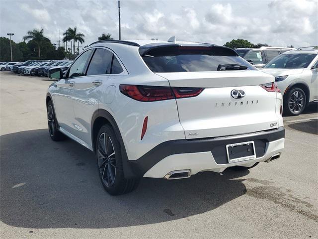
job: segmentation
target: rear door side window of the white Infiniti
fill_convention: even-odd
[[[105,49],[97,48],[90,63],[86,75],[110,74],[113,54]]]

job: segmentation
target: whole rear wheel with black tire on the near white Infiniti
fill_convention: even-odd
[[[98,174],[104,189],[111,195],[121,195],[135,190],[139,179],[125,178],[121,146],[110,125],[104,124],[99,129],[95,145]]]

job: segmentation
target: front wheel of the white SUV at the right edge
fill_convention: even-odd
[[[301,88],[292,88],[284,96],[284,115],[299,116],[306,108],[307,97]]]

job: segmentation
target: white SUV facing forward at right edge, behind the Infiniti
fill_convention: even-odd
[[[275,76],[285,114],[297,116],[309,103],[318,101],[318,49],[285,52],[261,71]]]

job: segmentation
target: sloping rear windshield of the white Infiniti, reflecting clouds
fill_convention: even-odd
[[[256,70],[234,51],[221,47],[159,47],[142,58],[152,72],[217,71],[220,64],[238,64]]]

